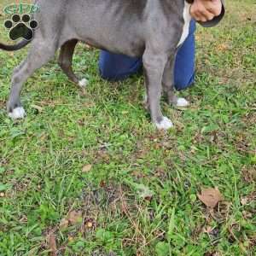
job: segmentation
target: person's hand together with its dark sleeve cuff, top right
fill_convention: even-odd
[[[224,17],[224,1],[194,0],[190,8],[190,14],[201,26],[215,26]]]

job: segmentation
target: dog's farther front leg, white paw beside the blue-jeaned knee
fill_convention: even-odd
[[[178,98],[174,93],[174,66],[175,55],[167,61],[165,71],[163,74],[163,90],[167,95],[168,104],[172,104],[178,108],[186,108],[189,106],[189,102],[184,98]]]

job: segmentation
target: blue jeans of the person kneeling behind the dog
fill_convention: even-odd
[[[143,66],[142,58],[116,55],[102,50],[99,70],[103,79],[122,80],[137,73]],[[194,84],[195,80],[195,21],[189,27],[189,37],[178,49],[174,68],[174,84],[177,90],[183,90]]]

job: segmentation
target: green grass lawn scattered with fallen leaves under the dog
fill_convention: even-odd
[[[51,61],[13,122],[5,104],[27,48],[0,51],[1,256],[255,255],[256,5],[226,4],[220,26],[198,26],[196,83],[180,93],[191,107],[162,102],[166,133],[143,108],[143,77],[102,80],[84,44],[73,66],[86,91]],[[211,210],[197,194],[214,187],[224,201]]]

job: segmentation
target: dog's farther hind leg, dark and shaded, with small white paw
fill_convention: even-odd
[[[73,52],[76,44],[78,44],[78,40],[73,39],[67,41],[61,46],[59,65],[63,72],[67,74],[68,79],[70,79],[74,84],[78,84],[79,87],[84,88],[88,84],[87,79],[79,80],[79,78],[73,73],[72,68]]]

